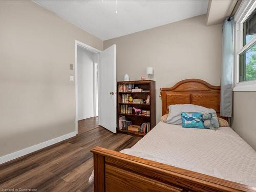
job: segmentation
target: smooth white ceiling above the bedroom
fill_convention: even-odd
[[[207,12],[208,0],[45,1],[35,3],[106,40],[177,22]]]

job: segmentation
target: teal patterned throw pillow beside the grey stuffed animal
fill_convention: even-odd
[[[182,127],[205,129],[201,116],[202,113],[181,113]]]

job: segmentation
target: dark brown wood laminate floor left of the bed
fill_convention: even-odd
[[[0,189],[36,188],[37,191],[93,191],[94,146],[120,151],[141,138],[113,134],[93,117],[78,122],[78,135],[39,152],[0,165]]]

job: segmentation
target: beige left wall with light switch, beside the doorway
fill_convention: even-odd
[[[75,132],[75,40],[103,48],[32,1],[0,1],[0,157]]]

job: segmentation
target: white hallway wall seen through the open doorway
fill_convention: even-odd
[[[77,47],[78,120],[94,116],[94,53]]]

